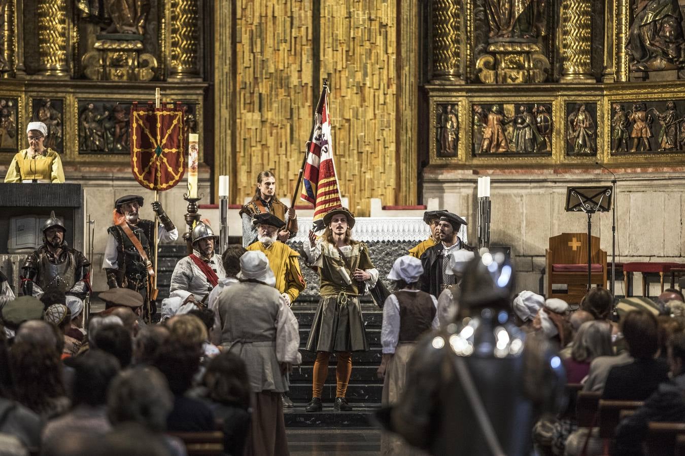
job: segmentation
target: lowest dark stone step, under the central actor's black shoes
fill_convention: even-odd
[[[286,427],[375,427],[372,415],[379,405],[356,403],[351,412],[336,412],[333,403],[323,403],[321,412],[305,412],[307,403],[295,403],[295,407],[283,409]]]

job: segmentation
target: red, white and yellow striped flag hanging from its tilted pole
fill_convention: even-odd
[[[314,134],[304,167],[300,198],[314,204],[314,221],[330,210],[343,206],[333,162],[331,118],[328,111],[328,87],[323,85],[314,116]]]

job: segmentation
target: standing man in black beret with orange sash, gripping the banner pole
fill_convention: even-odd
[[[110,289],[121,286],[137,291],[149,303],[149,312],[154,314],[155,296],[151,295],[150,278],[154,274],[155,222],[138,217],[142,203],[143,198],[138,195],[122,196],[114,203],[114,226],[107,229],[109,236],[102,268],[107,274]],[[158,241],[178,239],[178,230],[162,209],[162,204],[153,202],[152,210],[162,222]]]

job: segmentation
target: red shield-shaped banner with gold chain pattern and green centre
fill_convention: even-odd
[[[183,178],[183,120],[179,107],[131,107],[131,171],[143,187],[169,190]]]

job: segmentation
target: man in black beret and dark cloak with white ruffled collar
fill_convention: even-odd
[[[462,249],[475,252],[474,247],[463,243],[457,235],[462,225],[466,225],[466,220],[462,217],[447,211],[441,213],[437,228],[440,242],[427,248],[421,255],[423,264],[421,290],[435,297],[439,297],[448,286],[458,283],[458,276],[451,272],[447,257]]]

